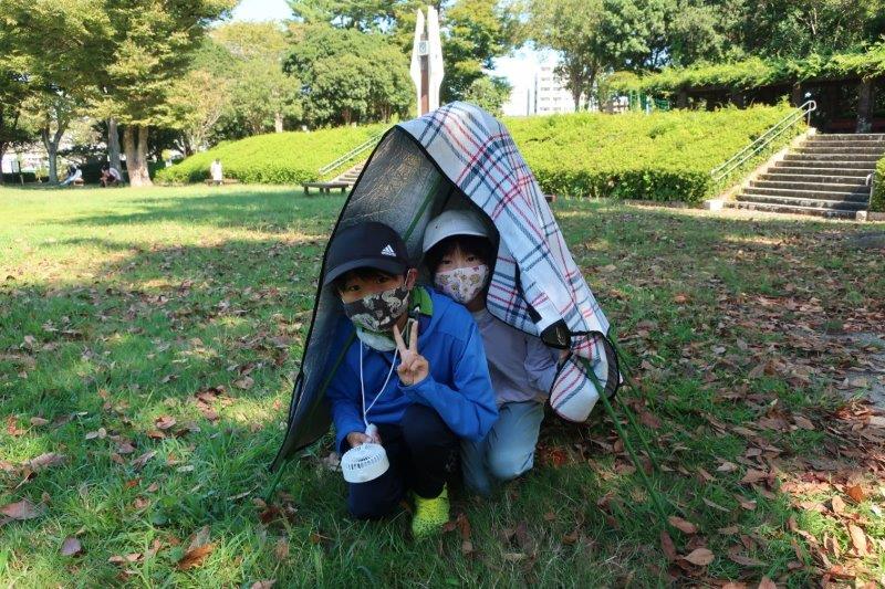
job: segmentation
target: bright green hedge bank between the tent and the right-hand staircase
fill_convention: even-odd
[[[748,166],[715,183],[710,170],[780,120],[790,108],[757,106],[650,115],[581,113],[507,119],[544,192],[574,197],[699,202],[783,147],[787,134]]]

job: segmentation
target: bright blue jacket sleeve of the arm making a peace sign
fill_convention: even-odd
[[[455,389],[437,382],[433,374],[417,385],[400,385],[400,389],[413,402],[435,409],[459,438],[479,441],[498,419],[498,407],[482,338],[472,319],[467,329],[467,338],[456,339],[451,346]]]

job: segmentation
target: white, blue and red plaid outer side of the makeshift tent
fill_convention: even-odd
[[[589,334],[572,337],[572,353],[590,360],[606,383],[612,358],[606,357],[611,348],[603,346],[603,338],[608,320],[504,126],[477,106],[451,103],[399,127],[498,229],[489,313],[532,335],[560,319],[573,334]],[[572,421],[584,421],[598,399],[584,370],[571,358],[551,391],[553,409]]]

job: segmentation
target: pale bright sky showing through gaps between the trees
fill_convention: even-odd
[[[242,0],[233,9],[235,21],[283,20],[292,15],[285,0]],[[500,75],[513,86],[509,104],[504,105],[504,114],[525,114],[525,91],[534,80],[534,72],[541,62],[550,62],[553,56],[531,49],[517,51],[512,56],[499,57],[494,61],[494,75]]]

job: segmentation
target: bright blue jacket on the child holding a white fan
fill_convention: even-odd
[[[465,307],[430,288],[426,292],[431,308],[423,309],[430,314],[421,313],[418,318],[418,353],[427,358],[430,374],[417,385],[405,387],[394,368],[391,381],[368,412],[368,422],[399,423],[408,406],[421,403],[435,409],[459,438],[481,440],[498,419],[482,337]],[[353,329],[350,319],[342,317],[331,357],[337,357],[335,350],[341,349]],[[326,389],[341,452],[350,448],[344,440],[348,433],[365,431],[360,392],[361,348],[366,404],[372,404],[378,395],[394,359],[393,351],[377,351],[358,339],[347,349]],[[398,365],[398,355],[396,361]]]

